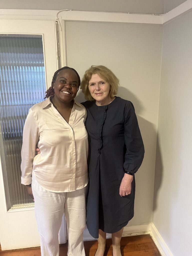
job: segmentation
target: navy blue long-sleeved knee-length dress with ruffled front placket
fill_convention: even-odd
[[[87,228],[98,238],[99,229],[114,233],[133,218],[135,177],[130,195],[121,197],[119,188],[125,170],[136,173],[141,166],[144,146],[130,101],[115,97],[105,106],[95,101],[82,104],[89,140]]]

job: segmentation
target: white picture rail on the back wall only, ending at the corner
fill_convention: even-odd
[[[59,11],[59,10],[18,10],[0,9],[0,19],[30,19],[30,20],[56,20],[66,21],[90,21],[90,22],[121,22],[121,23],[145,23],[162,24],[162,15],[85,12],[85,11]]]

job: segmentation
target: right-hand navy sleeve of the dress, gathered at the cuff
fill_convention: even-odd
[[[123,167],[126,172],[134,174],[142,164],[145,151],[134,106],[130,101],[124,109],[124,137],[126,153]]]

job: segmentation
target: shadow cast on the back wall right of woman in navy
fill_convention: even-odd
[[[154,124],[148,122],[140,116],[145,111],[144,106],[142,105],[142,102],[138,100],[131,91],[124,87],[119,87],[118,96],[126,100],[130,100],[133,103],[145,147],[143,164],[141,166],[141,169],[139,170],[139,175],[136,176],[137,185],[140,185],[140,187],[137,186],[136,189],[136,198],[139,197],[139,205],[135,205],[135,217],[137,216],[137,213],[141,214],[142,209],[142,214],[150,216],[150,219],[148,221],[152,221],[152,211],[157,207],[157,195],[159,188],[161,187],[163,175],[161,152],[159,148],[156,127]],[[146,209],[146,207],[148,207],[148,209]],[[141,217],[138,216],[138,219],[141,219]],[[143,219],[143,221],[145,220]]]

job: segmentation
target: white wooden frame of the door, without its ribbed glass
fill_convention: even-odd
[[[0,34],[42,35],[46,88],[51,86],[54,72],[58,69],[56,24],[53,20],[0,20]],[[31,204],[30,204],[31,205]],[[7,211],[0,162],[0,242],[2,250],[40,246],[34,214],[34,206]],[[63,218],[60,243],[66,242],[65,219]]]

